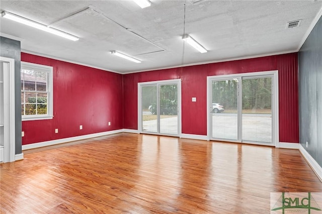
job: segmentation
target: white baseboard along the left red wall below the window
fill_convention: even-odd
[[[113,130],[113,131],[108,131],[108,132],[94,133],[94,134],[89,134],[89,135],[76,136],[76,137],[71,137],[71,138],[57,139],[57,140],[52,140],[52,141],[44,141],[44,142],[40,142],[40,143],[27,144],[27,145],[22,145],[22,150],[36,149],[36,148],[44,147],[44,146],[52,146],[52,145],[67,143],[67,142],[71,142],[71,141],[79,141],[79,140],[84,140],[84,139],[89,139],[89,138],[96,138],[96,137],[101,137],[104,135],[112,135],[112,134],[121,133],[121,132],[123,132],[123,129]]]

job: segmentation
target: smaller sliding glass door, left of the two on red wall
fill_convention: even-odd
[[[141,133],[178,136],[180,133],[180,80],[139,83]]]

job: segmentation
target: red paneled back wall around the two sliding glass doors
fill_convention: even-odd
[[[291,53],[123,75],[123,127],[137,130],[138,82],[182,79],[182,133],[207,135],[207,76],[278,70],[279,139],[298,143],[297,68],[297,53]]]

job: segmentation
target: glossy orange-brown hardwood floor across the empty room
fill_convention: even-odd
[[[120,133],[1,164],[1,213],[270,213],[322,192],[298,150]]]

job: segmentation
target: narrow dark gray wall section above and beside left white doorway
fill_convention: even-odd
[[[15,59],[16,154],[22,153],[20,52],[20,41],[8,39],[6,37],[0,37],[0,56]]]

